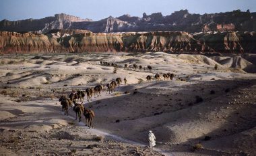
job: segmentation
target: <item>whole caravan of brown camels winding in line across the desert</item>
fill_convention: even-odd
[[[114,66],[114,67],[119,67],[117,64],[115,63],[109,63],[109,62],[102,62],[100,61],[101,65],[104,66]],[[148,68],[148,70],[151,72],[152,71],[152,66],[137,66],[137,64],[133,64],[132,66],[128,66],[128,64],[125,64],[122,66],[125,69],[128,69],[128,67],[133,68],[134,70],[136,70],[137,68],[139,68],[139,70],[146,70],[146,68]],[[164,78],[164,80],[172,80],[174,78],[174,74],[162,74],[162,77]],[[148,75],[146,77],[146,80],[151,81],[155,78],[156,81],[161,80],[161,76],[160,74],[156,74],[155,76],[150,76]],[[82,114],[84,114],[85,118],[86,118],[86,125],[88,125],[89,128],[93,128],[93,119],[94,119],[94,111],[90,110],[88,108],[85,108],[83,103],[84,103],[84,98],[86,96],[86,100],[88,102],[92,101],[92,95],[94,94],[94,98],[98,98],[99,96],[101,96],[101,93],[104,90],[104,87],[106,86],[106,94],[111,94],[113,92],[115,92],[115,89],[117,88],[117,86],[121,85],[124,82],[124,84],[127,84],[127,78],[116,78],[115,80],[113,80],[112,82],[106,84],[106,85],[102,85],[102,84],[98,84],[95,87],[89,87],[86,88],[85,91],[82,90],[77,90],[77,92],[75,92],[75,90],[72,90],[71,94],[69,94],[69,98],[67,98],[67,96],[61,96],[61,98],[59,98],[59,102],[61,102],[61,106],[62,106],[62,110],[64,112],[65,115],[68,115],[68,110],[69,107],[73,107],[73,111],[75,112],[75,120],[79,119],[79,122],[82,119]]]

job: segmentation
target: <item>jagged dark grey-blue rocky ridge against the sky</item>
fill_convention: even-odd
[[[122,15],[100,21],[80,19],[63,13],[43,19],[0,21],[0,31],[38,31],[46,33],[51,29],[88,29],[92,32],[129,31],[256,31],[256,13],[240,10],[226,13],[194,14],[187,10],[175,11],[171,15],[143,13],[142,17]]]

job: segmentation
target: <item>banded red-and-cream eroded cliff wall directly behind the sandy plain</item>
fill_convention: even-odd
[[[45,35],[0,32],[0,52],[232,52],[256,53],[255,32],[195,33],[153,31],[92,33],[78,29],[52,30]]]

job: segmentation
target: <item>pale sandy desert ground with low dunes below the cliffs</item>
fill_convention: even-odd
[[[0,155],[256,155],[253,54],[52,54],[0,61]],[[100,61],[117,64],[117,73]],[[167,72],[174,80],[164,80]],[[155,74],[161,80],[146,80]],[[75,121],[72,109],[69,116],[61,112],[61,95],[118,77],[127,84],[84,99],[96,113],[94,129]],[[156,135],[154,151],[146,147],[149,130]]]

